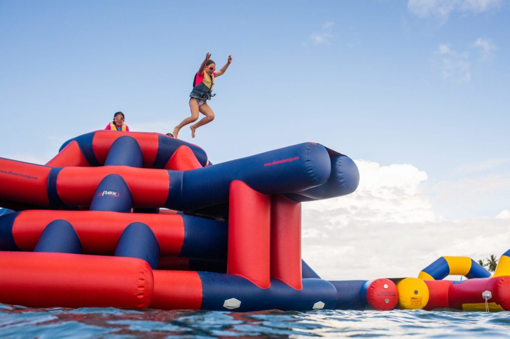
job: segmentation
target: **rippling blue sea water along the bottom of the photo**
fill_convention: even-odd
[[[0,304],[7,338],[309,338],[510,336],[510,313],[30,308]]]

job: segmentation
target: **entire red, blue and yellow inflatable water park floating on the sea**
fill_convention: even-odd
[[[510,310],[510,250],[492,275],[445,256],[417,277],[321,279],[301,258],[301,205],[359,180],[351,158],[317,143],[213,164],[196,145],[148,132],[83,134],[45,165],[0,158],[0,302]]]

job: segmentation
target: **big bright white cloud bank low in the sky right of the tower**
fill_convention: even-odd
[[[510,212],[447,220],[431,204],[445,187],[430,191],[425,172],[407,164],[355,162],[361,180],[353,194],[303,203],[302,256],[323,278],[417,276],[441,256],[478,260],[510,247]],[[487,192],[503,183],[494,176],[482,181]],[[505,185],[501,190],[508,195]],[[454,189],[447,203],[463,204],[465,189]]]

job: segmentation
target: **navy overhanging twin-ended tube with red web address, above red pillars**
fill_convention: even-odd
[[[324,146],[304,143],[196,170],[169,171],[165,207],[193,211],[225,204],[233,180],[263,194],[296,193],[288,194],[294,201],[348,194],[358,186],[359,172],[352,160],[339,157],[332,162]],[[317,186],[317,191],[309,190]]]

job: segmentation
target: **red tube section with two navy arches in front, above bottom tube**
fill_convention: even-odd
[[[56,219],[69,221],[84,253],[113,255],[120,234],[132,222],[145,223],[158,239],[162,256],[177,256],[184,241],[180,214],[119,213],[105,211],[22,211],[14,220],[12,235],[24,251],[34,250],[46,225]]]

